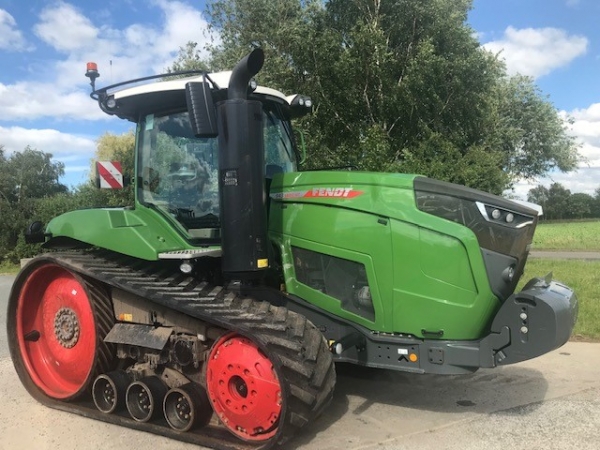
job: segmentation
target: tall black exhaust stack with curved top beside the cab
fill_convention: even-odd
[[[223,272],[256,279],[267,269],[262,104],[248,100],[248,84],[262,68],[255,49],[233,69],[227,100],[217,104]]]

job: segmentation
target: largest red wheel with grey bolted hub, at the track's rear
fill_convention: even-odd
[[[17,295],[17,358],[48,397],[76,397],[91,382],[97,350],[94,310],[83,281],[45,264],[29,274]]]

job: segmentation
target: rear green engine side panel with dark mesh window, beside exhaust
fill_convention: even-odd
[[[393,279],[389,221],[349,209],[281,203],[271,205],[270,221],[288,292],[369,329],[392,330],[385,304]],[[369,297],[372,313],[360,306]]]

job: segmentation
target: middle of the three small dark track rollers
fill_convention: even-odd
[[[149,422],[158,417],[168,390],[167,385],[157,376],[134,381],[125,394],[129,415],[138,422]]]

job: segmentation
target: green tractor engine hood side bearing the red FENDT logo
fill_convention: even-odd
[[[477,237],[466,226],[420,211],[414,178],[353,172],[276,177],[270,236],[282,253],[286,287],[370,330],[481,339],[500,303]],[[349,313],[343,301],[307,278],[295,248],[364,264],[375,320]]]

